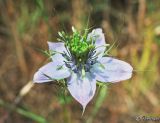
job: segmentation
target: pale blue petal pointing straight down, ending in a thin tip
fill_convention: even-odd
[[[77,74],[72,73],[68,79],[68,90],[71,95],[83,106],[83,111],[86,105],[93,98],[96,91],[95,77],[90,73],[86,73],[85,77],[80,78]]]

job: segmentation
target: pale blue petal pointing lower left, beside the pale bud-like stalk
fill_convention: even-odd
[[[33,77],[35,83],[49,82],[64,79],[70,76],[70,71],[65,65],[58,62],[50,62],[41,67]]]

